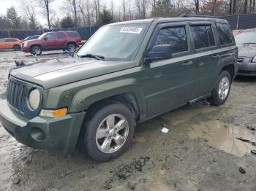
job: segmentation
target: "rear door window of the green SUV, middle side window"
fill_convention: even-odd
[[[215,45],[214,34],[211,26],[191,26],[195,49],[212,47]]]

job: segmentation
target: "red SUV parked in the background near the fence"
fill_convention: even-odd
[[[21,48],[23,52],[41,55],[42,51],[48,50],[69,50],[75,52],[75,49],[81,44],[82,39],[77,31],[56,31],[42,34],[38,39],[23,42]]]

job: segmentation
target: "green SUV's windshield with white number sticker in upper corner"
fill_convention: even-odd
[[[99,55],[106,61],[132,61],[143,39],[146,24],[103,26],[78,51],[78,56]]]

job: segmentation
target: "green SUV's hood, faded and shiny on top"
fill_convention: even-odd
[[[61,58],[28,64],[10,71],[13,77],[45,89],[135,67],[132,61],[98,61],[92,58]]]

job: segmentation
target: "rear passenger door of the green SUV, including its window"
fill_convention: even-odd
[[[195,88],[192,99],[211,93],[211,85],[219,62],[213,23],[210,21],[189,22],[194,52]]]

